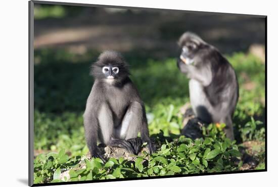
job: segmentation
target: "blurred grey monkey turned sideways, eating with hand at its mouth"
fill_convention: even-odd
[[[194,33],[178,40],[177,66],[189,81],[190,103],[195,115],[206,123],[225,123],[226,137],[234,139],[233,117],[239,85],[235,70],[221,53]]]

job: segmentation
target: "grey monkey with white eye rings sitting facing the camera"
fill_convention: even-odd
[[[105,160],[97,146],[98,140],[132,154],[138,154],[142,142],[147,142],[153,153],[155,147],[149,138],[145,106],[128,77],[129,69],[123,57],[114,51],[103,52],[92,65],[91,75],[95,82],[83,115],[91,156]],[[141,138],[137,138],[138,132]]]

